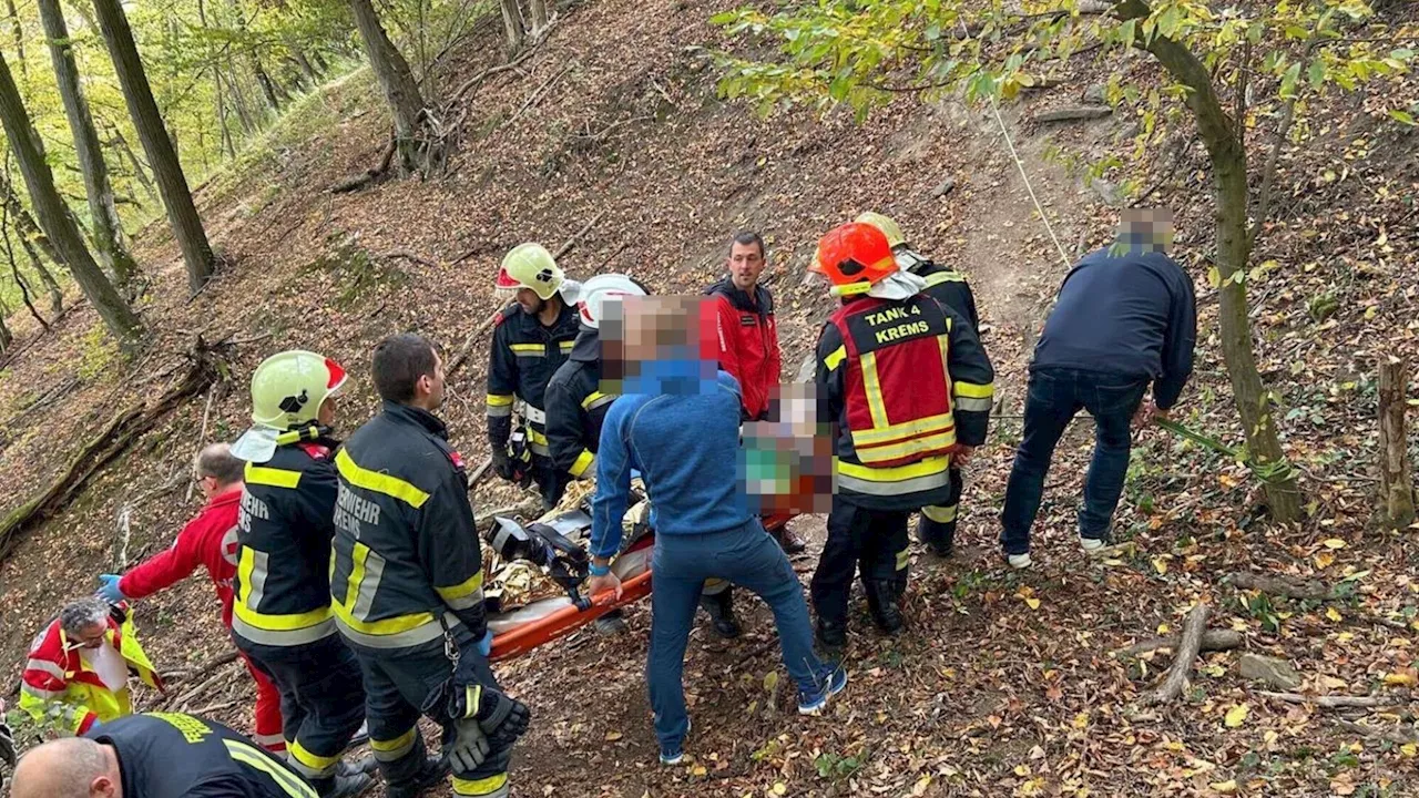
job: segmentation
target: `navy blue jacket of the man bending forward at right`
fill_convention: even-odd
[[[1166,410],[1192,375],[1198,301],[1192,278],[1162,253],[1110,254],[1104,247],[1074,264],[1030,369],[1071,368],[1151,379]]]

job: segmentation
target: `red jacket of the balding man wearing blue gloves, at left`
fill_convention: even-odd
[[[237,575],[237,510],[241,486],[220,496],[197,513],[177,532],[167,551],[149,558],[128,574],[118,588],[132,599],[140,599],[186,579],[199,565],[207,568],[211,585],[221,599],[221,623],[231,628],[231,579]]]

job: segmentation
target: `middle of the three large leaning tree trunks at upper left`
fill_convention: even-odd
[[[44,34],[50,40],[50,60],[54,62],[54,78],[64,102],[64,115],[74,133],[74,152],[78,156],[79,172],[84,175],[84,193],[88,196],[89,217],[94,224],[94,244],[98,257],[112,271],[121,288],[132,284],[138,275],[138,263],[123,247],[122,226],[118,207],[114,204],[114,186],[108,179],[108,165],[99,146],[94,116],[89,115],[84,89],[79,85],[79,71],[74,62],[74,45],[60,0],[37,0]]]

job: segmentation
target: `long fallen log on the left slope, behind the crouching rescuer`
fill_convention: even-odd
[[[152,403],[139,402],[136,406],[115,415],[96,436],[79,449],[58,479],[10,511],[4,520],[0,520],[0,562],[10,557],[26,530],[57,515],[78,496],[94,474],[126,452],[173,408],[206,390],[224,371],[216,348],[207,346],[201,337],[186,352],[186,358],[189,361],[187,372],[177,381],[176,386]]]

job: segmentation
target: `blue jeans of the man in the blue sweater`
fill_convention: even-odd
[[[827,683],[832,667],[813,653],[803,588],[789,558],[758,518],[722,532],[657,535],[650,572],[654,588],[646,682],[661,750],[677,748],[690,728],[683,683],[685,645],[705,579],[728,579],[769,605],[779,629],[783,666],[799,690],[817,693]]]

